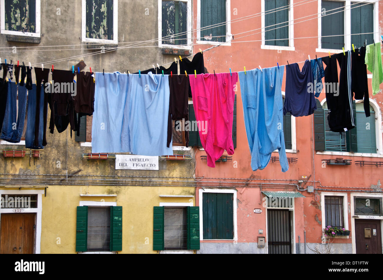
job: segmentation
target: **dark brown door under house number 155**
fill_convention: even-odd
[[[365,228],[371,229],[371,237],[365,237]],[[376,235],[373,235],[373,230]],[[381,254],[382,240],[380,220],[355,219],[355,244],[357,254]]]

